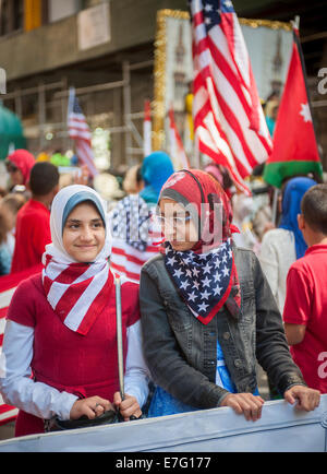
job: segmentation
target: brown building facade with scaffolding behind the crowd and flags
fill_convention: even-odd
[[[317,87],[318,72],[327,67],[326,36],[319,36],[326,13],[320,14],[319,23],[310,23],[313,8],[307,2],[291,0],[277,10],[277,2],[269,0],[233,3],[245,17],[289,21],[303,13],[303,47],[326,168],[327,95]],[[324,2],[317,3],[325,12]],[[70,146],[68,92],[74,86],[90,128],[109,132],[111,167],[141,161],[143,107],[146,99],[154,99],[154,43],[161,9],[185,11],[187,1],[0,1],[0,68],[7,73],[7,94],[0,98],[22,119],[32,152]],[[177,83],[182,79],[178,69],[181,48]]]

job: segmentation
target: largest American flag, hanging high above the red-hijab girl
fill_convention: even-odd
[[[238,16],[230,0],[190,0],[190,5],[198,149],[250,193],[244,178],[266,161],[272,143]]]

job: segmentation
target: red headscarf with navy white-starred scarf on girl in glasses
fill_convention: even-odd
[[[197,183],[193,178],[196,178]],[[231,237],[238,229],[231,225],[232,212],[225,191],[208,174],[183,170],[174,174],[162,189],[161,198],[172,195],[174,200],[180,195],[184,204],[193,202],[199,213],[204,209],[201,204],[209,205],[209,195],[222,209],[219,236],[216,238],[214,235],[207,251],[203,251],[206,247],[202,239],[189,251],[175,251],[168,241],[165,244],[165,265],[181,298],[204,324],[207,324],[223,305],[238,318],[241,293]],[[215,218],[214,211],[208,218],[207,215],[208,213],[206,216],[199,215],[201,220],[204,220],[199,227],[202,236],[208,235]]]

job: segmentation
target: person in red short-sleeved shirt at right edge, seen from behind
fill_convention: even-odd
[[[308,387],[327,393],[327,185],[311,188],[298,216],[308,249],[287,279],[283,321],[295,364]]]

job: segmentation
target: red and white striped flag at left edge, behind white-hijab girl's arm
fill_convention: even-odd
[[[3,334],[5,328],[7,310],[10,305],[11,298],[17,285],[29,276],[41,271],[43,265],[37,265],[24,272],[15,273],[13,275],[0,277],[0,354],[2,352]],[[5,425],[16,418],[19,410],[14,406],[7,405],[0,394],[0,426]]]

